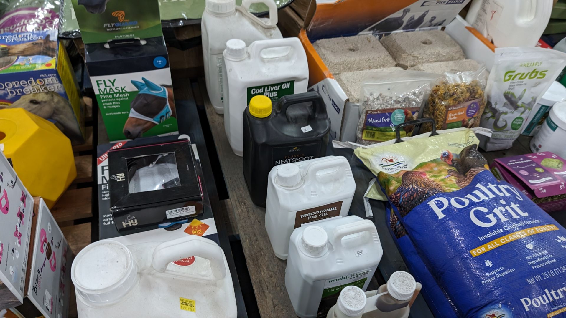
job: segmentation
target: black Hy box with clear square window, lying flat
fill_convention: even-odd
[[[119,231],[203,213],[201,176],[190,141],[108,152],[110,212]]]

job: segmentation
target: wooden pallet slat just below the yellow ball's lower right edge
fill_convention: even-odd
[[[51,213],[58,223],[92,217],[92,188],[67,190]]]

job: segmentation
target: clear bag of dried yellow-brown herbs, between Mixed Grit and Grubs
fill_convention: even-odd
[[[432,86],[423,117],[433,118],[436,129],[474,128],[486,107],[487,72],[484,67],[475,72],[445,72]],[[431,131],[423,124],[419,132]]]

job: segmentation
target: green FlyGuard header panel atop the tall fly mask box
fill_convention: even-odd
[[[85,43],[159,37],[161,17],[158,1],[72,0]]]

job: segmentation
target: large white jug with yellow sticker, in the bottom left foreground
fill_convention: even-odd
[[[100,240],[75,257],[71,278],[79,317],[237,316],[224,252],[198,235],[130,246]]]

